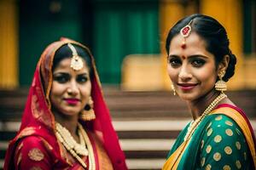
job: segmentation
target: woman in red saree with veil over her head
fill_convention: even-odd
[[[4,169],[127,169],[89,48],[63,38],[44,50]]]

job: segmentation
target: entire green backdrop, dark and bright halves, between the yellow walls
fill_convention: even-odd
[[[119,84],[128,54],[159,54],[158,0],[20,1],[20,86],[60,37],[89,46],[103,83]]]

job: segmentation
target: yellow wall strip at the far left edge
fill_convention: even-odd
[[[18,25],[15,0],[0,1],[0,88],[18,86]]]

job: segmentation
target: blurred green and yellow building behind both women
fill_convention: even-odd
[[[69,37],[91,49],[102,83],[169,89],[166,34],[194,13],[213,16],[228,31],[238,58],[229,87],[255,89],[255,0],[1,0],[0,88],[29,86],[44,48]]]

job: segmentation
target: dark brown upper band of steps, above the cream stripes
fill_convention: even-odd
[[[19,120],[26,104],[28,89],[0,90],[0,120]],[[189,117],[185,102],[171,92],[124,92],[106,88],[104,96],[113,120]],[[249,117],[256,117],[256,90],[227,92],[230,99]]]

